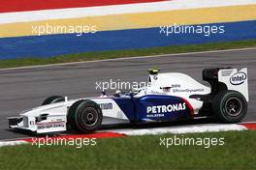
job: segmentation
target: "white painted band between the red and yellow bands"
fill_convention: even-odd
[[[138,14],[186,10],[199,8],[214,8],[224,6],[255,5],[255,0],[171,0],[101,7],[69,8],[57,10],[41,10],[32,12],[16,12],[0,14],[0,23],[29,22],[48,19],[78,18],[84,16],[110,14]]]

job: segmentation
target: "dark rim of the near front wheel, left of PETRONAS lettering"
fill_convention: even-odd
[[[97,124],[98,119],[98,112],[95,108],[86,107],[82,110],[81,121],[87,127],[93,127],[95,124]]]

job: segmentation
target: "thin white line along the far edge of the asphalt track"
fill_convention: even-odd
[[[238,48],[238,49],[223,49],[223,50],[209,50],[209,51],[200,51],[200,52],[183,52],[183,53],[174,53],[174,54],[160,54],[160,55],[152,55],[152,56],[124,57],[124,58],[93,60],[93,61],[84,61],[84,62],[71,62],[71,63],[59,63],[59,64],[49,64],[49,65],[39,65],[39,66],[28,66],[28,67],[0,69],[0,71],[37,69],[37,68],[47,68],[47,67],[55,67],[55,66],[87,64],[87,63],[111,62],[111,61],[133,60],[133,59],[144,59],[144,58],[156,58],[156,57],[167,57],[167,56],[207,54],[207,53],[216,53],[216,52],[232,52],[232,51],[255,50],[255,49],[256,49],[256,47],[248,47],[248,48]]]

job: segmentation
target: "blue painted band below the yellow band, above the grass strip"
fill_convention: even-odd
[[[208,37],[203,34],[174,34],[167,37],[159,33],[160,28],[145,28],[103,31],[80,37],[74,34],[63,34],[2,38],[0,39],[0,59],[51,57],[80,52],[256,39],[256,20],[207,25],[224,25],[225,33]]]

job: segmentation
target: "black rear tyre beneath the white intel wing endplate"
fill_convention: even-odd
[[[247,101],[237,91],[225,90],[212,101],[212,110],[224,123],[238,123],[247,113]]]

